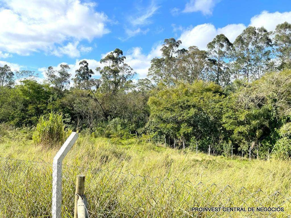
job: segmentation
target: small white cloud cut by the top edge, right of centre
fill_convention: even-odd
[[[203,15],[212,15],[212,11],[219,0],[190,0],[186,3],[183,12],[201,11]]]

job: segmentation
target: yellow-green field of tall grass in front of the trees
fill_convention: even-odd
[[[50,216],[50,166],[55,153],[56,149],[35,146],[21,134],[2,138],[0,156],[25,161],[0,160],[0,185],[5,193],[0,197],[1,202],[5,196],[15,195],[21,199],[16,205],[15,201],[6,200],[5,210],[0,209],[0,214]],[[79,173],[86,175],[91,217],[145,217],[145,214],[147,217],[216,217],[213,213],[195,214],[190,209],[192,206],[272,207],[281,204],[285,213],[269,217],[290,214],[290,200],[286,201],[291,195],[289,161],[207,156],[148,143],[146,136],[123,140],[81,135],[63,164],[66,190],[63,217],[72,217],[74,181]],[[21,186],[17,187],[19,184]],[[42,191],[34,194],[33,190],[39,187]],[[273,195],[276,191],[280,194]],[[31,199],[38,199],[40,203]],[[15,213],[17,210],[19,212]],[[252,215],[267,217],[268,214]],[[229,214],[219,216],[229,217]],[[245,216],[235,213],[231,217]]]

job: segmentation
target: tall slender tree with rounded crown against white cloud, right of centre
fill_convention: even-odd
[[[212,42],[207,44],[209,60],[212,63],[212,67],[214,67],[215,81],[217,84],[220,84],[225,59],[228,57],[231,47],[232,43],[223,34],[217,35]]]

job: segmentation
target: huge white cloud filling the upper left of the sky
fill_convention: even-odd
[[[92,40],[108,33],[107,16],[79,0],[4,0],[0,9],[0,49],[29,55],[50,53],[58,44]]]

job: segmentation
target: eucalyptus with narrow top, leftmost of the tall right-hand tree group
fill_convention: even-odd
[[[162,58],[153,58],[149,68],[148,76],[155,82],[164,82],[168,88],[178,80],[176,53],[182,42],[174,38],[165,39],[162,51]]]

